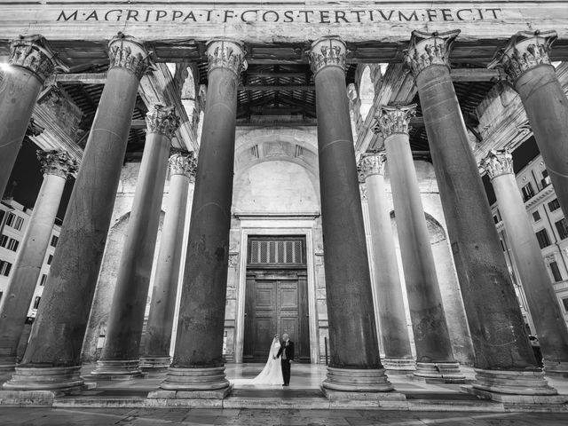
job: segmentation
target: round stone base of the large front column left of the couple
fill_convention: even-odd
[[[227,389],[230,391],[230,383],[225,377],[225,367],[170,367],[168,369],[166,379],[160,384],[160,388],[165,390],[183,390],[197,392],[195,395],[201,395],[202,391],[209,392],[209,390],[215,390],[215,392],[211,392],[210,397],[193,397],[215,398],[213,394],[219,394],[218,390],[223,390],[223,392],[220,393],[224,393]],[[223,398],[225,398],[225,396],[223,396]],[[192,397],[186,396],[183,398]]]

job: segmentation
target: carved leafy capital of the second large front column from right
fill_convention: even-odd
[[[445,65],[450,67],[450,51],[459,29],[445,33],[425,33],[414,30],[410,37],[410,45],[406,52],[406,65],[412,70],[416,78],[422,69],[431,65]]]

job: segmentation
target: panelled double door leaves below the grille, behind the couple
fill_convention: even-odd
[[[296,360],[310,362],[308,291],[305,270],[248,271],[244,362],[266,362],[275,334],[290,335]]]

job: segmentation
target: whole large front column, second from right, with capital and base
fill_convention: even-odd
[[[458,34],[413,31],[406,59],[420,96],[474,343],[473,391],[486,391],[487,398],[555,394],[534,359],[454,91],[449,52]]]

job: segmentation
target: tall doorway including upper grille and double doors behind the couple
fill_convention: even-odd
[[[305,238],[248,238],[244,362],[265,362],[274,334],[288,333],[310,362]]]

